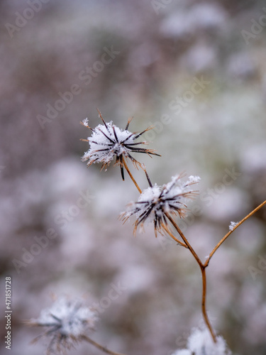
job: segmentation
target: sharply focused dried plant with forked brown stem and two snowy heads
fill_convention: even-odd
[[[101,117],[101,113],[99,112],[99,116]],[[101,117],[102,119],[102,117]],[[104,119],[102,119],[104,121]],[[129,121],[128,121],[129,123]],[[84,126],[88,126],[87,121],[84,121]],[[113,155],[116,154],[116,163],[119,163],[121,165],[121,173],[123,177],[123,155],[126,157],[131,158],[133,163],[135,163],[135,167],[140,165],[139,162],[136,163],[136,160],[131,157],[131,155],[128,155],[128,151],[126,148],[123,147],[123,144],[125,142],[125,138],[128,137],[128,140],[131,139],[131,137],[137,138],[141,134],[143,134],[145,131],[142,133],[139,133],[137,136],[134,136],[134,133],[127,133],[127,131],[124,131],[126,133],[126,136],[122,136],[122,131],[117,129],[117,132],[119,132],[119,138],[117,136],[115,126],[110,122],[109,124],[106,124],[104,122],[104,125],[106,127],[106,131],[104,132],[102,128],[96,127],[96,129],[101,132],[101,134],[104,134],[104,148],[100,150],[95,150],[94,144],[95,142],[95,135],[99,136],[99,133],[95,133],[95,129],[93,131],[92,138],[88,138],[88,141],[91,145],[91,149],[85,153],[83,160],[87,160],[89,158],[89,165],[92,163],[95,163],[98,159],[98,157],[101,157],[100,161],[102,160],[104,154],[107,154],[108,149],[106,146],[110,146],[110,149],[112,151],[111,155],[108,155],[107,160],[104,160],[104,166],[106,164],[109,164],[109,161],[111,158],[113,158]],[[89,127],[89,126],[88,126]],[[101,126],[102,127],[102,126]],[[128,125],[126,126],[126,129],[128,128]],[[113,130],[113,131],[111,131]],[[108,137],[109,135],[109,137]],[[115,137],[115,138],[113,138]],[[106,141],[107,139],[107,141]],[[126,138],[127,139],[127,138]],[[132,138],[133,139],[133,138]],[[100,143],[101,141],[99,141]],[[146,143],[146,142],[142,142]],[[121,145],[119,146],[118,149],[115,149],[114,146],[116,145]],[[113,146],[114,145],[114,146]],[[130,146],[130,145],[129,145]],[[132,146],[132,145],[131,145]],[[139,151],[140,148],[136,152]],[[131,150],[132,152],[134,151],[134,148]],[[154,151],[148,151],[148,150],[141,150],[142,153],[150,153],[150,154],[155,154]],[[156,154],[158,155],[158,154]],[[142,166],[142,165],[140,165]],[[189,179],[186,182],[182,182],[182,178],[184,178],[184,174],[176,175],[172,178],[171,182],[168,182],[166,185],[163,186],[157,186],[157,185],[152,185],[150,178],[148,176],[147,171],[145,168],[145,174],[148,179],[148,184],[149,187],[144,190],[143,192],[140,190],[140,187],[138,186],[137,182],[135,182],[135,179],[133,178],[133,175],[131,172],[128,170],[128,167],[126,167],[126,170],[128,171],[128,174],[131,176],[131,179],[133,180],[135,186],[138,188],[138,191],[140,192],[140,196],[138,197],[137,202],[131,202],[128,204],[128,207],[125,212],[122,212],[121,218],[125,222],[129,217],[133,216],[135,214],[136,216],[136,221],[135,221],[135,227],[134,227],[134,233],[138,226],[143,226],[143,224],[147,221],[150,220],[154,224],[154,229],[155,229],[155,235],[157,236],[157,232],[160,233],[167,233],[174,241],[177,241],[177,243],[180,246],[184,246],[184,248],[189,249],[189,251],[192,253],[192,256],[194,256],[196,262],[199,265],[199,268],[201,270],[201,276],[202,276],[202,298],[201,298],[201,312],[204,317],[204,322],[206,324],[207,329],[209,329],[209,333],[211,334],[211,338],[213,339],[213,342],[216,344],[217,342],[217,337],[216,333],[214,332],[213,327],[211,326],[211,322],[209,321],[209,317],[206,312],[206,267],[209,266],[209,262],[214,256],[214,253],[216,250],[221,246],[223,241],[225,241],[228,236],[236,229],[240,224],[242,224],[246,219],[248,219],[252,214],[254,214],[257,209],[260,209],[265,202],[262,202],[260,206],[258,206],[256,209],[253,210],[253,212],[250,212],[248,216],[246,216],[242,221],[235,223],[231,222],[230,225],[230,230],[226,236],[223,236],[223,238],[218,242],[218,244],[214,247],[213,251],[209,254],[209,256],[206,258],[206,261],[201,261],[199,256],[197,255],[196,251],[192,248],[191,244],[189,244],[189,241],[187,238],[184,236],[182,233],[182,230],[179,229],[179,226],[177,222],[175,222],[174,217],[178,215],[181,218],[184,218],[187,214],[187,205],[186,202],[189,198],[192,198],[196,195],[196,191],[193,191],[191,188],[191,185],[196,184],[199,182],[200,178],[198,176],[190,176]],[[169,227],[169,222],[170,224],[174,227],[175,231],[179,234],[181,237],[182,241],[177,239],[176,236],[172,233],[172,230]]]

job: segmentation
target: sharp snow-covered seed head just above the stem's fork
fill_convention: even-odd
[[[153,221],[155,235],[167,226],[167,214],[185,217],[187,214],[187,200],[196,195],[191,185],[199,182],[198,176],[189,176],[186,182],[182,182],[184,175],[173,176],[172,180],[163,186],[150,186],[144,190],[137,202],[131,202],[121,217],[126,221],[133,214],[136,215],[135,229],[143,226],[148,219]]]

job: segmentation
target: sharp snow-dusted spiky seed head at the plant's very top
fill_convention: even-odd
[[[120,129],[114,125],[112,121],[106,123],[102,118],[100,111],[99,117],[101,118],[103,124],[99,124],[94,129],[89,127],[88,119],[84,119],[84,121],[81,122],[83,126],[92,130],[92,136],[85,140],[89,142],[90,148],[86,153],[84,153],[82,157],[82,161],[88,161],[88,166],[92,165],[93,163],[102,163],[102,168],[107,168],[107,166],[111,163],[111,160],[115,158],[116,164],[120,165],[121,167],[121,175],[124,179],[123,158],[130,158],[135,167],[141,167],[141,164],[138,162],[138,160],[133,158],[131,153],[159,155],[156,154],[153,149],[138,147],[138,145],[147,144],[147,142],[143,141],[135,143],[135,139],[142,136],[143,133],[151,129],[151,127],[140,133],[132,133],[128,131],[128,125],[130,124],[131,119],[128,120],[126,129]]]

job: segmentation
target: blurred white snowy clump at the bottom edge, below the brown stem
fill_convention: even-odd
[[[208,329],[192,330],[187,339],[187,349],[177,350],[172,355],[231,355],[227,348],[226,341],[219,335],[216,343],[211,337]]]

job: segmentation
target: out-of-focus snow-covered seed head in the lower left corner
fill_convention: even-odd
[[[86,333],[94,330],[96,320],[96,313],[84,306],[81,300],[61,297],[51,307],[42,310],[37,319],[29,320],[26,324],[47,329],[33,339],[33,342],[41,337],[49,337],[47,354],[51,354],[64,353],[65,349],[70,349],[77,342],[86,339]]]

